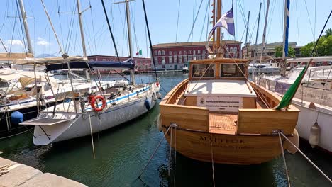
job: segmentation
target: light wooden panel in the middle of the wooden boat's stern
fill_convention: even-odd
[[[238,115],[210,113],[209,132],[216,134],[235,135]]]

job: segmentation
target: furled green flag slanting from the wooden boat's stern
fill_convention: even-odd
[[[286,91],[284,96],[282,97],[282,101],[280,101],[279,105],[276,106],[277,110],[281,110],[284,107],[289,106],[292,103],[293,97],[295,93],[297,92],[297,89],[299,88],[299,84],[301,84],[301,81],[306,74],[306,70],[308,69],[309,65],[311,64],[312,59],[309,63],[306,64],[302,72],[299,74],[299,77],[294,81],[292,86],[289,87],[289,89]]]

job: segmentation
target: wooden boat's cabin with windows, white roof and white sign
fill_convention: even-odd
[[[193,60],[184,93],[186,106],[206,107],[209,111],[238,113],[238,108],[256,108],[257,97],[248,79],[248,60]]]

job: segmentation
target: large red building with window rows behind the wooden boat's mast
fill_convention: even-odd
[[[226,50],[224,57],[240,58],[241,42],[223,40]],[[212,42],[209,43],[212,45]],[[190,60],[206,59],[206,42],[177,42],[153,45],[157,70],[182,69]]]

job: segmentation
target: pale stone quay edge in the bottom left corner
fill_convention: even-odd
[[[0,187],[53,187],[53,186],[85,186],[77,181],[66,179],[55,174],[45,173],[31,166],[26,166],[0,157]]]

